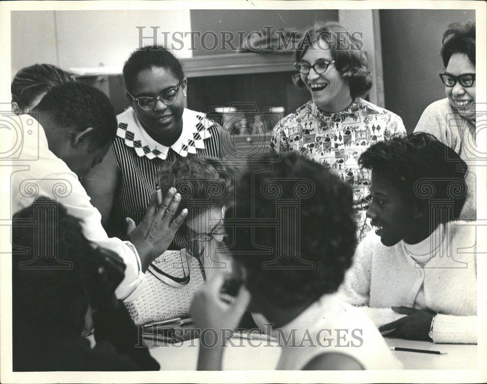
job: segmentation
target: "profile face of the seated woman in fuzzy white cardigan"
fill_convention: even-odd
[[[404,192],[377,171],[372,172],[370,193],[372,202],[367,210],[367,217],[371,219],[375,234],[380,236],[382,244],[391,247],[401,240],[416,243],[418,240],[415,229],[418,226],[412,199],[405,197]],[[425,235],[424,238],[428,236]]]

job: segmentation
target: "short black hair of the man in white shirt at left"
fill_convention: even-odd
[[[42,98],[34,110],[44,111],[62,128],[82,131],[93,128],[92,143],[103,147],[111,142],[117,130],[115,110],[108,96],[86,84],[56,85]]]

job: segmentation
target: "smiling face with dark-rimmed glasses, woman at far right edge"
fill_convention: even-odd
[[[446,73],[459,76],[464,73],[475,73],[475,65],[467,55],[456,53],[451,55]],[[457,81],[453,87],[445,86],[445,93],[451,106],[463,117],[475,115],[475,82],[471,87],[462,87]]]

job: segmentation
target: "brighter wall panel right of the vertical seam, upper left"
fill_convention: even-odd
[[[157,32],[190,32],[189,10],[181,11],[59,11],[56,12],[59,43],[59,64],[71,67],[119,67],[120,70],[130,53],[139,46],[139,30],[145,27],[143,36],[153,36],[152,26]],[[144,39],[143,45],[152,43]],[[168,43],[172,44],[168,38]],[[162,33],[157,43],[163,44]],[[185,47],[191,44],[187,36]],[[174,43],[179,47],[180,44]],[[191,51],[174,51],[178,57],[190,57]]]

